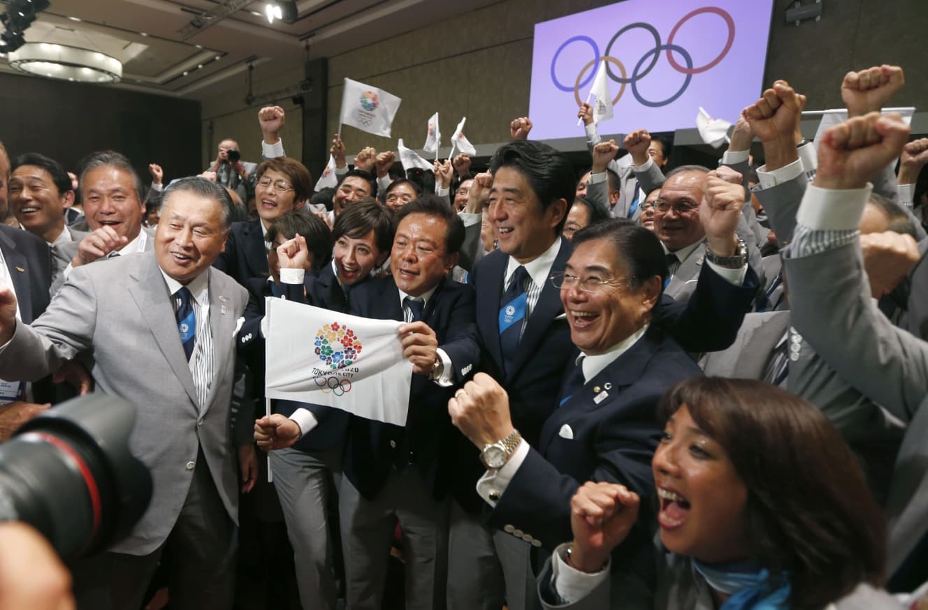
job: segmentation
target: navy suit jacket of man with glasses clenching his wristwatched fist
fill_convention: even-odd
[[[657,403],[677,381],[696,376],[702,371],[690,356],[651,326],[551,413],[490,525],[521,529],[553,550],[571,538],[571,498],[585,481],[621,483],[647,505],[654,495],[651,458],[664,429]]]

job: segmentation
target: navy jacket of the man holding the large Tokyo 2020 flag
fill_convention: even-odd
[[[393,277],[370,280],[351,293],[350,313],[377,320],[404,319]],[[422,321],[438,337],[451,360],[453,382],[460,384],[480,360],[474,327],[473,287],[444,278],[422,311]],[[423,375],[413,375],[406,426],[393,426],[352,416],[343,472],[368,500],[380,492],[393,465],[417,467],[436,499],[445,496],[455,459],[458,432],[447,403],[454,385],[442,388]]]

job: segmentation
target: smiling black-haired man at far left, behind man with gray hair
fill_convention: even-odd
[[[55,159],[39,153],[19,155],[13,161],[13,174],[9,180],[10,208],[19,225],[41,237],[52,255],[52,286],[54,295],[64,281],[68,256],[64,248],[76,246],[84,235],[66,225],[65,211],[74,203],[71,178]]]

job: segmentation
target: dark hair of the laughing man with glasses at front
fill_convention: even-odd
[[[591,223],[574,233],[574,249],[593,239],[608,239],[612,242],[618,252],[619,262],[628,273],[628,283],[632,289],[658,275],[663,291],[668,274],[667,259],[661,241],[653,232],[627,218],[610,218]]]

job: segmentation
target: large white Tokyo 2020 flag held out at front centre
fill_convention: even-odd
[[[265,394],[406,426],[412,363],[400,322],[267,299]]]

